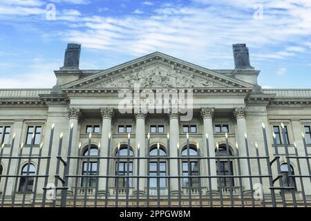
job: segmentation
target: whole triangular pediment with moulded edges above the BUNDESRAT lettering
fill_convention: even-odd
[[[62,86],[78,88],[252,88],[252,84],[221,75],[160,52],[140,57]]]

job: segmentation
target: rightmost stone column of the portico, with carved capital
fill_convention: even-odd
[[[247,133],[246,127],[246,114],[247,108],[235,108],[234,117],[236,117],[236,123],[238,130],[236,131],[236,140],[238,142],[238,152],[242,157],[246,156],[246,146],[245,146],[245,133]],[[247,160],[242,159],[241,161],[241,173],[242,175],[249,175]],[[250,191],[251,186],[249,184],[249,178],[242,178],[244,191]]]

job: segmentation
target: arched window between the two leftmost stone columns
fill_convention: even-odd
[[[95,145],[91,145],[90,153],[88,154],[88,148],[86,148],[83,152],[83,156],[97,156],[98,148]],[[97,175],[98,170],[98,162],[97,160],[82,160],[82,175]],[[82,177],[81,185],[87,187],[95,187],[97,184],[97,177]]]

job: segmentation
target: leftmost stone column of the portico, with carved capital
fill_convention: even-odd
[[[78,149],[78,144],[79,144],[79,131],[78,131],[78,122],[79,122],[79,118],[81,117],[81,112],[79,109],[76,108],[70,108],[68,110],[68,117],[69,117],[69,126],[68,126],[68,130],[70,131],[70,127],[71,125],[73,125],[73,141],[72,141],[72,146],[71,146],[71,156],[77,156],[79,155],[79,149]],[[68,139],[69,139],[69,135],[70,132],[68,132]],[[66,153],[66,155],[68,155],[67,151],[68,151],[68,146],[65,147],[66,151],[64,151]],[[70,168],[69,168],[69,174],[73,175],[75,174],[77,171],[77,160],[73,160],[70,159]],[[75,185],[75,178],[69,178],[68,179],[68,191],[70,193],[70,191],[73,191],[73,187]],[[77,186],[75,186],[77,187]]]

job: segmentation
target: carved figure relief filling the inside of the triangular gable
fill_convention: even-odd
[[[180,73],[174,68],[151,66],[141,68],[133,73],[126,73],[120,77],[111,77],[107,81],[96,84],[93,88],[219,88],[221,87],[208,79],[195,77],[194,74]]]

